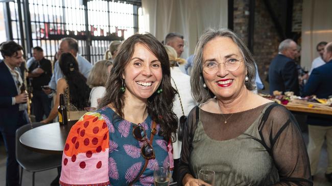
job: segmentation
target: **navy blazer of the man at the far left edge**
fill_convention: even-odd
[[[14,79],[4,61],[0,60],[0,131],[15,134],[18,126],[18,104],[12,105],[17,96]]]

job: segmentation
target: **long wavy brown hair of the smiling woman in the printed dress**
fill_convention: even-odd
[[[133,53],[135,44],[140,43],[146,46],[160,61],[162,69],[162,80],[158,89],[163,91],[160,94],[154,94],[148,98],[147,110],[151,118],[159,123],[160,135],[165,140],[171,138],[171,134],[177,129],[177,117],[172,111],[173,100],[175,98],[176,90],[171,84],[170,63],[167,52],[163,45],[151,34],[135,34],[129,37],[118,49],[118,53],[114,58],[111,75],[108,77],[106,83],[106,94],[102,98],[99,107],[105,107],[112,104],[115,111],[124,117],[124,92],[121,91],[122,75],[129,63]],[[176,140],[176,139],[173,139]]]

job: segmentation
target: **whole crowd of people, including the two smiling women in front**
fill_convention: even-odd
[[[292,113],[256,94],[264,88],[257,65],[231,30],[205,30],[189,62],[181,58],[183,47],[179,33],[168,34],[163,42],[151,34],[134,34],[112,41],[104,59],[92,66],[78,53],[75,39],[63,38],[53,69],[43,49],[33,48],[27,79],[35,120],[55,120],[60,94],[70,119],[78,119],[55,184],[153,185],[153,165],[168,162],[178,185],[199,185],[201,169],[216,172],[216,185],[312,185],[324,136],[332,149],[331,121],[308,118],[306,149]],[[326,81],[332,74],[332,43],[317,45],[320,57],[303,77],[294,62],[297,44],[287,39],[278,50],[269,69],[270,94],[332,95]],[[25,59],[13,41],[2,43],[0,51],[6,182],[18,185],[15,131],[29,122],[29,95],[18,69]],[[299,88],[301,78],[307,83]],[[331,160],[329,155],[329,181]]]

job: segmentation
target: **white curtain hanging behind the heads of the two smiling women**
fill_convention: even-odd
[[[142,0],[146,32],[159,41],[170,32],[184,36],[186,58],[194,53],[203,30],[227,28],[227,0]]]

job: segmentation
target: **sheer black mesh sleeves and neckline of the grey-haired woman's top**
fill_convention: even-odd
[[[199,112],[203,113],[199,114]],[[192,142],[197,128],[198,116],[200,115],[200,117],[204,117],[204,115],[202,115],[204,112],[205,111],[200,110],[198,107],[195,107],[188,115],[183,130],[184,135],[179,162],[178,185],[182,185],[182,179],[186,174],[193,175],[193,171],[189,165],[191,158],[190,154],[193,150]],[[257,114],[253,112],[257,112]],[[250,118],[257,118],[259,115],[258,112],[262,112],[262,109],[257,109],[257,111],[251,110],[249,112],[244,111],[240,113],[239,117],[234,117],[234,122],[240,123],[240,125],[235,125],[235,123],[229,124],[229,126],[232,127],[230,127],[230,131],[223,133],[223,139],[236,137],[236,135],[234,136],[234,133],[236,133],[236,131],[244,130],[241,129],[244,125],[250,126],[250,123],[252,122],[250,121]],[[218,119],[219,118],[208,117],[208,124],[220,125],[220,119]],[[204,122],[206,121],[206,118],[204,118]],[[231,121],[231,119],[229,119],[229,121]],[[206,125],[203,123],[203,126]],[[212,127],[213,126],[211,126],[211,128]],[[216,129],[217,128],[214,128],[214,130],[208,130],[205,128],[204,131],[207,135],[212,136],[212,138],[215,136],[215,139],[217,139],[217,137],[220,136],[220,133],[218,136],[213,134]],[[270,104],[262,118],[258,121],[257,130],[260,138],[255,140],[266,148],[270,156],[273,158],[274,165],[278,170],[279,182],[275,185],[313,185],[309,158],[307,156],[302,134],[296,119],[290,111],[282,105]]]

